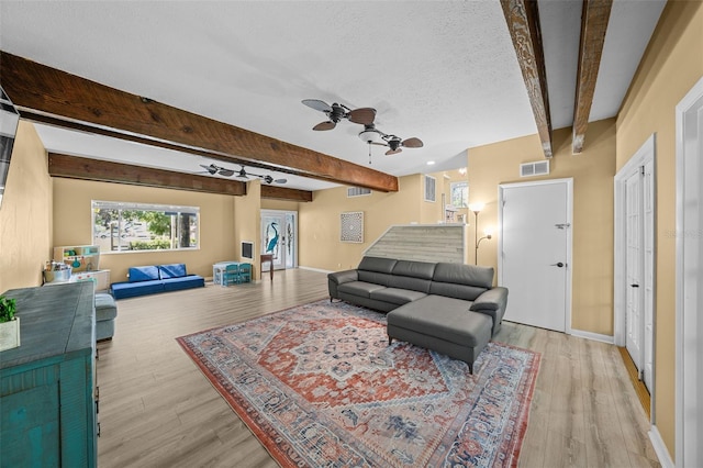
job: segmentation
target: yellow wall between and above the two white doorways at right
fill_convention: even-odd
[[[617,168],[656,133],[655,424],[676,442],[676,105],[703,76],[703,3],[670,1],[617,116]]]

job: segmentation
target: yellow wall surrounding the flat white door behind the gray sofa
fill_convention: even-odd
[[[520,165],[543,160],[537,135],[470,148],[469,202],[483,202],[479,236],[486,227],[498,234],[498,186],[544,179],[573,178],[573,256],[571,327],[613,334],[613,177],[615,121],[592,122],[582,154],[571,154],[571,129],[554,132],[554,157],[547,177],[521,178]],[[471,213],[470,223],[475,223]],[[467,230],[475,243],[475,226]],[[472,252],[471,252],[472,253]],[[498,271],[498,235],[481,242],[479,264]]]

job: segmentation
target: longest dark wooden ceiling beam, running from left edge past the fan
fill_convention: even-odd
[[[193,114],[148,97],[120,91],[68,73],[0,52],[0,78],[20,114],[56,123],[114,132],[125,140],[172,145],[234,164],[319,180],[398,191],[398,178],[280,140]],[[68,126],[68,125],[66,125]],[[158,142],[158,144],[157,144]]]

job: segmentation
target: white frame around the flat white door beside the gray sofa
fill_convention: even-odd
[[[498,236],[498,285],[503,283],[503,191],[507,188],[514,187],[529,187],[529,186],[544,186],[550,183],[566,183],[567,186],[567,223],[570,225],[567,229],[567,278],[566,278],[566,291],[565,291],[565,333],[571,335],[571,271],[573,270],[573,179],[546,179],[531,182],[514,182],[514,183],[501,183],[498,186],[498,221],[499,221],[499,236]]]

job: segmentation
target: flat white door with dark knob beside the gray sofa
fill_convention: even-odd
[[[505,320],[567,331],[570,312],[571,179],[500,187],[499,283]]]

